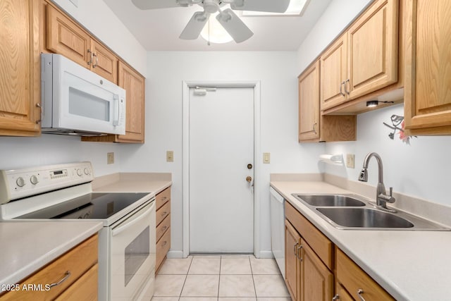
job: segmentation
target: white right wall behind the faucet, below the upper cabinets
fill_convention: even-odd
[[[355,154],[355,168],[328,166],[326,172],[357,181],[366,154],[377,152],[383,161],[385,188],[393,186],[395,192],[451,206],[447,186],[451,180],[451,137],[412,137],[407,145],[400,140],[397,131],[395,139],[390,140],[388,134],[393,130],[383,122],[391,125],[393,114],[404,116],[402,104],[359,115],[356,142],[326,145],[330,154]],[[376,186],[375,159],[371,159],[368,172],[369,184]]]

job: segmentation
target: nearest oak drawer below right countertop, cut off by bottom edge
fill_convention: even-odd
[[[367,301],[395,300],[340,249],[337,248],[336,254],[337,281],[350,292],[355,300],[360,300],[357,293],[359,290],[362,290],[362,297]]]

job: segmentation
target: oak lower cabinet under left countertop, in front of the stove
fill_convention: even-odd
[[[1,301],[97,300],[98,236],[93,235],[18,283]]]

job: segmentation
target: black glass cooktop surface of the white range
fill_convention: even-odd
[[[89,193],[16,219],[107,219],[149,192]]]

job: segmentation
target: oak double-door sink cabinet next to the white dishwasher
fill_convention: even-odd
[[[285,215],[285,283],[292,300],[332,300],[332,243],[287,202]]]

